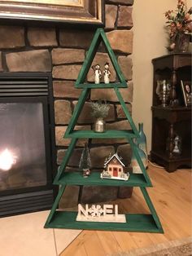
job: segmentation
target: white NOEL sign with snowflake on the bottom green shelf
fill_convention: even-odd
[[[78,205],[76,221],[126,223],[125,214],[118,214],[118,205]]]

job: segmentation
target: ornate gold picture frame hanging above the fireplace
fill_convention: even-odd
[[[103,26],[103,0],[0,0],[0,21],[33,20]]]

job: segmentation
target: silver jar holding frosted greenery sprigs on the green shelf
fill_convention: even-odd
[[[97,102],[91,103],[91,108],[91,115],[96,118],[94,131],[104,132],[105,121],[103,121],[103,118],[107,117],[110,106],[106,102],[103,104],[101,100],[98,100]]]

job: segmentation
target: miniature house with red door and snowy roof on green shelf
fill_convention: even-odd
[[[101,173],[102,179],[121,179],[128,180],[129,173],[124,173],[124,163],[122,158],[116,154],[109,155],[104,163],[104,170]]]

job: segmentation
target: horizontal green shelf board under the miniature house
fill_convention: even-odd
[[[84,186],[124,186],[124,187],[151,187],[146,182],[143,174],[130,174],[129,180],[101,179],[100,172],[93,171],[88,178],[84,178],[82,172],[64,172],[57,183],[62,185],[84,185]]]

